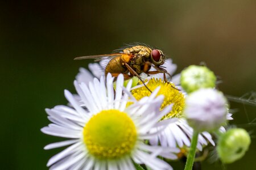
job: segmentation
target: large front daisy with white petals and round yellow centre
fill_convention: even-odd
[[[70,138],[44,147],[48,150],[70,145],[49,159],[47,166],[50,169],[135,169],[136,163],[151,169],[172,169],[157,156],[176,159],[174,153],[179,149],[144,143],[159,133],[152,129],[164,129],[175,121],[158,122],[171,112],[172,105],[159,111],[163,96],[156,96],[157,88],[150,96],[127,107],[129,94],[124,91],[130,91],[131,81],[126,88],[122,87],[120,74],[114,90],[114,78],[108,74],[106,83],[104,79],[95,78],[88,86],[75,81],[83,105],[65,90],[72,108],[58,105],[46,109],[52,124],[42,128],[43,133]]]

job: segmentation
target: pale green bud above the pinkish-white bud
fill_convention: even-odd
[[[181,87],[191,93],[199,88],[213,88],[216,84],[216,76],[205,66],[191,65],[181,71]]]

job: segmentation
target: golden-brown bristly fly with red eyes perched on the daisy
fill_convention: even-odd
[[[94,58],[95,61],[109,58],[110,60],[105,67],[105,75],[111,73],[116,78],[122,73],[125,79],[137,76],[150,92],[151,90],[146,86],[140,76],[141,73],[146,73],[147,75],[163,73],[165,82],[168,82],[166,74],[171,77],[162,66],[166,59],[162,50],[152,48],[146,44],[129,44],[121,49],[114,50],[112,54],[82,56],[76,57],[75,59],[89,58]],[[150,71],[151,67],[154,67],[155,71]]]

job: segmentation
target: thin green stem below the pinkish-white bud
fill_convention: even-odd
[[[188,157],[187,157],[187,162],[185,165],[185,170],[192,170],[193,168],[193,163],[196,155],[196,145],[197,145],[198,135],[199,135],[199,132],[194,130],[191,147],[190,147]]]

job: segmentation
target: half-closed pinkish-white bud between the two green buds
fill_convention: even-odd
[[[213,131],[226,122],[228,104],[222,92],[202,88],[185,99],[184,114],[188,124],[197,131]]]

